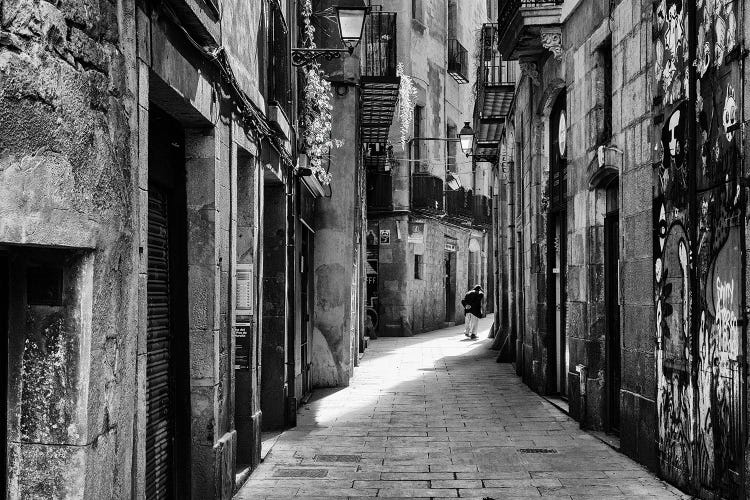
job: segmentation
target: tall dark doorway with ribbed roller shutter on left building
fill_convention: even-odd
[[[149,112],[146,498],[190,496],[184,131]]]

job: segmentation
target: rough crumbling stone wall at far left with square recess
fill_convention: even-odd
[[[72,314],[52,321],[45,306],[11,325],[10,498],[131,497],[134,19],[109,1],[4,0],[0,12],[0,247],[22,245],[11,259],[65,248],[52,264]]]

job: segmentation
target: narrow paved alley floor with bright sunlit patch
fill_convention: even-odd
[[[488,343],[459,327],[373,341],[351,386],[313,394],[236,500],[682,497],[496,364]]]

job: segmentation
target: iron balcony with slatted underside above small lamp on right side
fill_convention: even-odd
[[[497,24],[482,26],[480,44],[474,108],[474,156],[478,161],[494,161],[505,117],[516,92],[518,63],[503,60],[500,55]]]

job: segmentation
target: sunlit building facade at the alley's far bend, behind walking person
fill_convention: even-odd
[[[470,54],[488,17],[478,0],[378,3],[397,16],[413,90],[403,94],[402,78],[400,119],[387,143],[366,149],[368,326],[404,336],[463,322],[463,295],[487,289],[491,170],[461,152],[457,134],[471,121]]]

